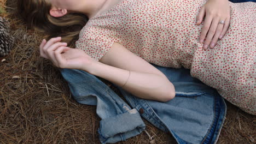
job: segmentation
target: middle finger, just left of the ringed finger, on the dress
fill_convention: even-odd
[[[213,19],[211,27],[207,33],[205,43],[203,44],[203,49],[206,50],[208,48],[208,46],[210,45],[213,35],[216,33],[218,23],[219,23],[219,19]]]

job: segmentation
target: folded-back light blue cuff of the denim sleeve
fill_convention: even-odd
[[[136,136],[145,128],[138,111],[132,109],[115,117],[102,119],[98,133],[101,143],[115,143]]]

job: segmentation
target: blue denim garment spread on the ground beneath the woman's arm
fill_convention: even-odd
[[[215,89],[191,77],[188,69],[154,66],[176,88],[176,97],[166,103],[140,99],[118,87],[128,105],[85,71],[61,69],[61,74],[78,103],[97,105],[101,143],[124,141],[141,133],[145,124],[140,115],[155,127],[170,131],[178,143],[216,143],[226,114],[223,98]]]

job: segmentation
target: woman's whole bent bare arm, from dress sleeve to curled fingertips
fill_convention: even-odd
[[[40,55],[57,67],[87,71],[143,99],[168,101],[175,96],[174,86],[161,71],[118,43],[98,62],[82,50],[66,47],[60,40],[43,40],[40,45]]]

